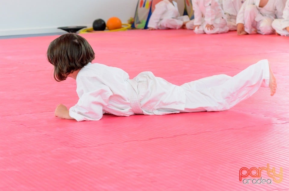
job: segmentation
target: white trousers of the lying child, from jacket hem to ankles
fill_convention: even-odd
[[[180,112],[223,111],[269,87],[269,62],[261,60],[231,77],[225,74],[205,77],[183,84],[185,110]]]

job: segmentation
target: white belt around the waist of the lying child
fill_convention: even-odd
[[[127,82],[130,84],[128,86],[128,89],[129,89],[129,102],[130,102],[130,106],[132,107],[132,111],[135,114],[144,114],[144,112],[141,109],[141,103],[138,97],[137,81],[134,79],[131,79],[131,80],[127,80]]]

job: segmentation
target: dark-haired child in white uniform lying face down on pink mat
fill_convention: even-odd
[[[223,111],[250,97],[260,86],[271,96],[277,83],[268,60],[249,66],[234,77],[221,74],[176,86],[150,71],[135,78],[120,68],[91,64],[95,53],[74,33],[52,41],[47,51],[57,81],[76,80],[79,101],[69,110],[60,104],[55,116],[63,119],[100,120],[102,115],[164,115],[181,112]]]

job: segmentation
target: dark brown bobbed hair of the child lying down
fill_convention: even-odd
[[[47,59],[54,65],[54,79],[62,81],[68,74],[92,62],[94,54],[85,38],[75,33],[67,33],[49,44]]]

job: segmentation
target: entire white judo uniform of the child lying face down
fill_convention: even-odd
[[[100,120],[103,114],[164,115],[180,112],[222,111],[269,86],[269,64],[261,60],[234,77],[225,74],[173,85],[151,72],[135,78],[120,68],[87,64],[76,77],[79,101],[69,109],[77,121]]]

